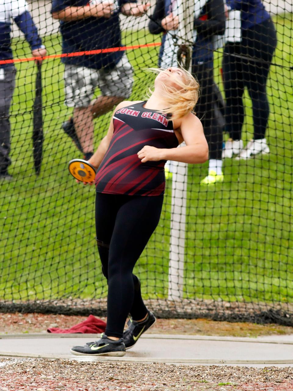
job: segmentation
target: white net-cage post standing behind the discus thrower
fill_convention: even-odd
[[[182,39],[179,45],[186,45],[190,55],[193,39],[193,15],[194,0],[183,0],[179,4],[179,29],[178,36]],[[186,40],[189,43],[186,43]],[[189,71],[191,69],[191,61]],[[185,145],[182,143],[180,146]],[[186,224],[186,197],[187,197],[187,173],[186,163],[172,162],[172,201],[171,201],[171,229],[170,229],[170,260],[168,299],[180,300],[183,296],[184,279],[184,254],[185,254],[185,224]]]

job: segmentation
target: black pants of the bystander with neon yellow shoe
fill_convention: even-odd
[[[218,120],[215,102],[213,64],[193,64],[192,74],[200,84],[200,97],[195,112],[204,127],[204,135],[209,145],[209,158],[222,159],[223,123]]]

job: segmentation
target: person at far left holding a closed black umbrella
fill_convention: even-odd
[[[32,56],[46,56],[38,30],[25,0],[4,0],[0,4],[0,60],[11,60],[11,23],[14,22],[30,44]],[[41,59],[37,61],[41,62]],[[8,173],[11,164],[9,109],[15,87],[16,68],[13,64],[0,65],[0,179],[11,180]]]

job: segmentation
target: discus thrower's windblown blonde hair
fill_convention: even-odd
[[[175,83],[180,88],[177,89],[175,87],[168,85],[166,86],[163,84],[163,100],[166,102],[167,107],[165,109],[161,109],[160,111],[164,114],[168,114],[169,116],[171,115],[169,118],[171,120],[182,118],[188,113],[195,114],[193,109],[199,97],[200,85],[197,79],[181,66],[178,66],[178,68],[185,75],[185,81],[179,77],[175,79]],[[160,74],[161,72],[166,71],[164,68],[148,68],[147,70],[156,74]],[[149,88],[147,93],[148,97],[150,97],[149,93],[152,94],[153,92],[154,91]]]

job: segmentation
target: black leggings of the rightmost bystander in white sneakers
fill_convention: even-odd
[[[227,43],[223,55],[223,81],[226,96],[225,130],[233,140],[241,139],[244,121],[243,92],[252,100],[254,139],[265,137],[270,108],[266,81],[277,36],[272,20],[242,31],[241,43]],[[235,57],[255,57],[262,62]]]

